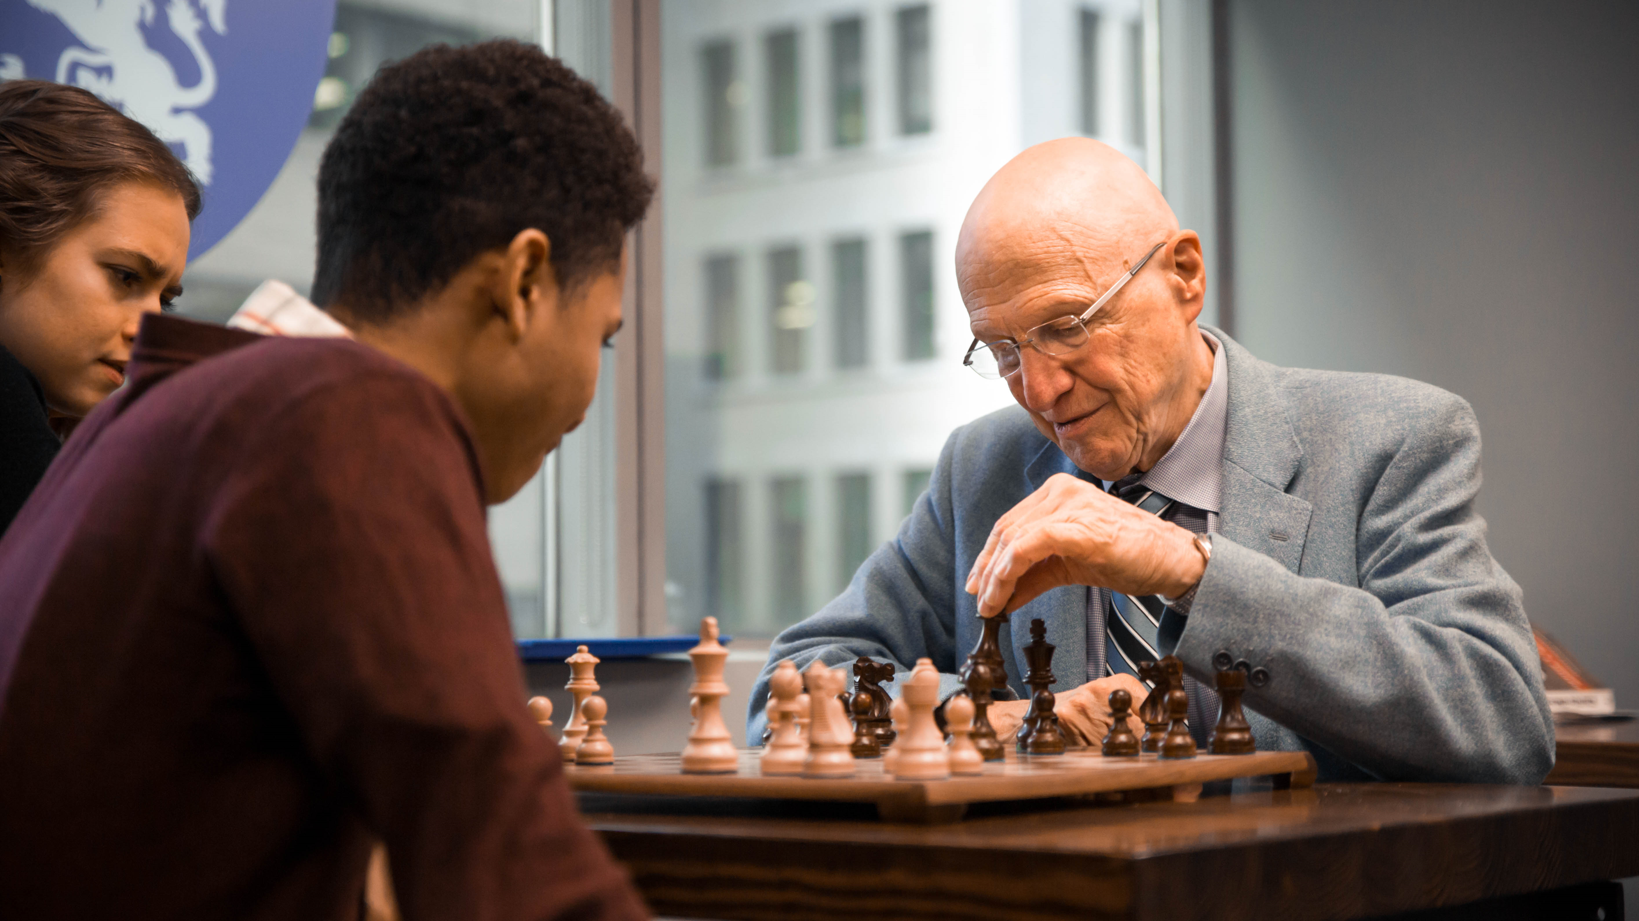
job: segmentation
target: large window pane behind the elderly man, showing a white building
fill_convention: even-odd
[[[674,629],[772,636],[820,610],[898,533],[951,431],[1013,405],[960,364],[957,231],[1028,144],[1090,133],[1142,162],[1128,23],[1139,0],[661,5]],[[757,143],[716,159],[736,74]]]

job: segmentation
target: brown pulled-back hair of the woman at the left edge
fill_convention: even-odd
[[[123,182],[174,190],[188,220],[200,187],[170,147],[95,95],[46,80],[0,84],[0,252],[28,277]]]

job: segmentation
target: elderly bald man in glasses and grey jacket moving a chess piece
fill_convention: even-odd
[[[1473,510],[1464,400],[1275,367],[1200,326],[1200,238],[1096,141],[1006,164],[956,262],[965,362],[1018,406],[957,429],[898,536],[779,636],[751,737],[780,659],[926,656],[949,696],[980,618],[1013,611],[1000,733],[1028,706],[1041,618],[1057,713],[1088,742],[1110,690],[1142,700],[1134,665],[1175,654],[1198,742],[1213,672],[1239,665],[1259,747],[1306,749],[1323,778],[1542,780],[1552,718],[1519,587]]]

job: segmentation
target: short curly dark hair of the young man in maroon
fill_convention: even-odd
[[[649,208],[642,151],[597,87],[520,41],[382,67],[318,170],[313,302],[385,323],[529,228],[559,285],[620,262]]]

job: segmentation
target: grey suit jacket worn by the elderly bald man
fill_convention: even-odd
[[[1473,510],[1473,410],[1400,377],[1275,367],[1211,333],[1229,362],[1221,533],[1172,652],[1206,682],[1221,651],[1267,669],[1246,693],[1259,747],[1306,749],[1323,778],[1539,783],[1554,721],[1519,587]],[[1059,472],[1092,479],[1018,406],[951,434],[898,536],[775,639],[747,736],[780,659],[905,672],[926,656],[952,693],[978,639],[967,570],[992,524]],[[1087,682],[1087,588],[1072,585],[1003,628],[1013,693],[1033,618],[1059,647],[1054,690]]]

